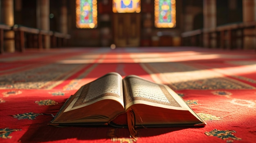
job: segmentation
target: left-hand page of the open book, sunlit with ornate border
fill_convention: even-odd
[[[96,79],[82,86],[75,94],[74,100],[64,112],[88,106],[103,99],[113,99],[124,106],[122,77],[117,73]]]

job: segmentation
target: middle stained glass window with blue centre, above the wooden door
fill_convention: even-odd
[[[140,0],[113,0],[114,13],[140,13]]]

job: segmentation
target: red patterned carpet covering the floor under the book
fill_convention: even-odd
[[[70,48],[0,55],[1,143],[132,143],[128,129],[47,125],[70,95],[109,72],[175,90],[203,128],[142,128],[137,143],[253,143],[256,53],[196,47]]]

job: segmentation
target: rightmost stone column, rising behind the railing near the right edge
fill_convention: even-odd
[[[243,0],[243,22],[253,22],[256,20],[256,0]],[[243,48],[252,49],[255,46],[255,31],[252,29],[243,30]]]

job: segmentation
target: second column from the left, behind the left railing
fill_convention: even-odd
[[[49,13],[50,13],[50,3],[49,0],[37,0],[37,26],[38,29],[42,30],[50,30],[50,20],[49,20]],[[45,36],[44,40],[45,48],[50,48],[50,36]]]

